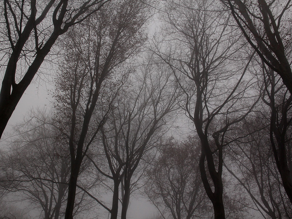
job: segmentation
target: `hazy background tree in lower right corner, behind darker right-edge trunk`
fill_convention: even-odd
[[[224,166],[238,181],[239,190],[244,188],[250,196],[247,207],[258,210],[263,218],[291,218],[291,204],[277,171],[266,122],[250,118],[238,127],[237,132],[246,137],[229,145]]]

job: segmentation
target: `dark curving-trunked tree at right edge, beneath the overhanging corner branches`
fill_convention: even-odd
[[[263,66],[263,102],[270,107],[270,146],[281,180],[292,203],[291,106],[292,95],[274,71]]]

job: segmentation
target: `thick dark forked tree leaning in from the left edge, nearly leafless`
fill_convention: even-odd
[[[5,60],[0,93],[0,136],[25,89],[58,37],[109,0],[1,2],[1,50]]]

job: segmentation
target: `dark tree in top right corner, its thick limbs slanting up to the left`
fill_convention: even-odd
[[[248,43],[292,93],[291,0],[220,0],[228,8]]]

